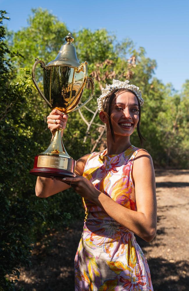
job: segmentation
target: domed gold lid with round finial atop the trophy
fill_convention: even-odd
[[[58,56],[53,61],[50,61],[46,67],[52,65],[69,65],[72,67],[79,67],[80,63],[76,55],[76,49],[72,45],[74,37],[72,36],[71,32],[68,33],[68,35],[65,37],[65,40],[67,43],[61,46]]]

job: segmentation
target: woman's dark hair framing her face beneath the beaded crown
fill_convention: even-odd
[[[119,95],[121,92],[131,92],[133,93],[135,96],[136,94],[129,90],[129,89],[117,89],[115,91],[113,91],[113,93],[109,96],[106,97],[105,99],[105,103],[104,103],[104,111],[108,114],[108,123],[109,123],[109,126],[110,126],[110,131],[111,131],[111,135],[112,135],[112,138],[113,138],[113,141],[115,141],[115,134],[114,134],[114,131],[113,131],[113,127],[112,127],[112,122],[111,122],[111,112],[112,112],[112,107],[113,107],[113,101],[115,100],[116,98],[116,94]],[[136,96],[137,97],[137,96]],[[138,100],[138,98],[137,98]],[[140,133],[140,116],[141,116],[141,107],[140,107],[140,102],[138,101],[138,106],[139,106],[139,114],[138,114],[138,117],[139,117],[139,120],[138,120],[138,123],[137,123],[137,132],[138,132],[138,137],[140,139],[140,144],[142,145],[143,143],[143,140],[145,140],[145,138],[142,136],[142,134]]]

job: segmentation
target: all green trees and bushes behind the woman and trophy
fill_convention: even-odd
[[[35,58],[53,60],[68,33],[48,10],[32,10],[28,26],[16,33],[6,31],[6,12],[0,19],[0,290],[14,290],[7,277],[30,264],[36,239],[49,228],[63,228],[83,216],[81,199],[72,189],[48,199],[35,197],[36,178],[29,175],[34,156],[51,139],[46,117],[49,108],[31,81]],[[187,168],[189,157],[189,80],[180,93],[171,84],[154,77],[156,61],[145,49],[135,48],[131,39],[118,42],[105,29],[73,32],[80,62],[88,61],[89,75],[95,78],[95,96],[86,108],[70,114],[64,144],[74,159],[106,147],[103,125],[98,118],[96,99],[102,86],[112,78],[137,84],[145,99],[142,107],[143,147],[155,167]],[[42,70],[37,68],[42,87]],[[88,97],[90,88],[85,89]],[[71,116],[72,115],[72,116]],[[91,118],[94,117],[93,122]],[[85,121],[85,122],[84,122]],[[132,144],[141,147],[137,134]]]

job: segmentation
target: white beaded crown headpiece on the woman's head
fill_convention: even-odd
[[[124,82],[113,79],[112,85],[107,85],[106,88],[102,88],[102,94],[99,98],[97,98],[98,103],[98,109],[99,111],[104,111],[104,103],[106,100],[106,97],[108,97],[114,90],[117,89],[129,89],[135,93],[135,95],[138,98],[138,101],[140,103],[140,106],[144,104],[144,99],[142,98],[141,91],[139,90],[139,87],[129,84],[129,80],[126,80]]]

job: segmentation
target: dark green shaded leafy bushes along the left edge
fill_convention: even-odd
[[[1,24],[4,15],[2,11]],[[20,55],[8,49],[3,26],[0,33],[0,286],[3,290],[14,290],[5,275],[19,277],[20,265],[30,263],[30,251],[38,235],[54,221],[56,227],[67,226],[70,214],[61,195],[48,200],[35,197],[36,179],[29,175],[29,170],[34,156],[44,146],[41,138],[41,129],[46,128],[41,120],[44,104],[36,96],[33,100],[31,77],[26,68],[22,75],[15,76],[13,58],[19,60]],[[47,114],[46,109],[44,113]],[[50,139],[50,134],[46,135]]]

